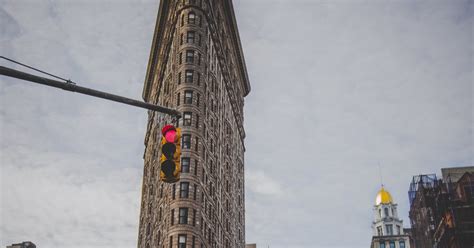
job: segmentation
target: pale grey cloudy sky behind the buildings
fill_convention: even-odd
[[[0,54],[141,98],[158,0],[0,0]],[[473,2],[234,0],[246,239],[368,247],[380,187],[473,165]],[[5,61],[0,65],[16,67]],[[146,111],[0,76],[0,246],[136,247]]]

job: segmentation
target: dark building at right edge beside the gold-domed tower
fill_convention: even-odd
[[[414,176],[408,191],[416,247],[474,247],[474,166]]]

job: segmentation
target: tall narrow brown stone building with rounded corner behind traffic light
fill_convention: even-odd
[[[181,179],[159,180],[149,113],[138,247],[245,247],[244,97],[250,92],[231,0],[162,0],[143,98],[183,113]]]

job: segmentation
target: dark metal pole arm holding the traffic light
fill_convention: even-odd
[[[81,94],[85,94],[85,95],[89,95],[89,96],[95,96],[95,97],[107,99],[107,100],[114,101],[114,102],[119,102],[119,103],[132,105],[132,106],[135,106],[135,107],[145,108],[145,109],[148,109],[148,110],[153,110],[153,111],[157,111],[157,112],[164,113],[164,114],[169,114],[169,115],[171,115],[173,117],[177,117],[177,118],[181,117],[181,113],[179,111],[175,110],[175,109],[165,108],[165,107],[161,107],[161,106],[158,106],[158,105],[154,105],[154,104],[150,104],[150,103],[146,103],[146,102],[126,98],[126,97],[123,97],[123,96],[118,96],[118,95],[110,94],[110,93],[103,92],[103,91],[98,91],[98,90],[94,90],[94,89],[90,89],[90,88],[77,86],[76,84],[74,84],[72,82],[66,82],[65,83],[65,82],[61,82],[61,81],[57,81],[57,80],[52,80],[52,79],[49,79],[49,78],[39,77],[39,76],[36,76],[36,75],[33,75],[33,74],[25,73],[25,72],[22,72],[22,71],[17,71],[17,70],[7,68],[7,67],[4,67],[4,66],[0,66],[0,75],[13,77],[13,78],[17,78],[17,79],[22,79],[22,80],[25,80],[25,81],[30,81],[30,82],[34,82],[34,83],[38,83],[38,84],[51,86],[51,87],[56,87],[56,88],[60,88],[60,89],[63,89],[63,90],[77,92],[77,93],[81,93]]]

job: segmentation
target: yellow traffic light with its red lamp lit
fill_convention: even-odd
[[[174,183],[181,173],[181,128],[166,125],[161,129],[160,179]]]

